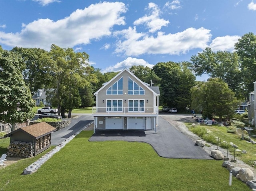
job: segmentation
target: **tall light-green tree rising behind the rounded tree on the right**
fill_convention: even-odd
[[[206,73],[208,77],[220,78],[236,92],[238,98],[243,97],[239,59],[236,53],[213,52],[211,48],[207,47],[202,53],[192,56],[190,61],[192,62],[190,67],[197,76]]]

